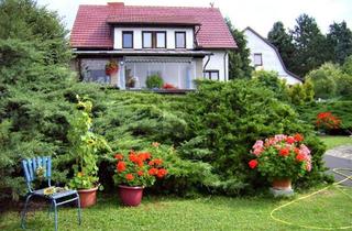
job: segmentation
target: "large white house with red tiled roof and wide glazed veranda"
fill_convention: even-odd
[[[144,88],[158,75],[164,84],[193,89],[197,78],[229,79],[228,52],[237,43],[213,7],[110,2],[79,6],[70,46],[82,80]],[[107,64],[114,66],[109,75]]]

